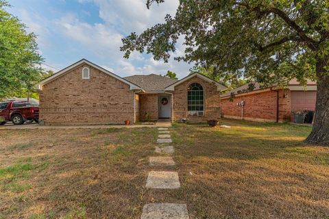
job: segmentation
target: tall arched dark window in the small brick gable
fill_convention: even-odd
[[[191,116],[204,115],[204,88],[199,83],[191,83],[187,88],[188,114]]]

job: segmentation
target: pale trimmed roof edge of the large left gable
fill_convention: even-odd
[[[75,62],[74,64],[71,64],[71,66],[68,66],[68,67],[60,70],[58,73],[55,73],[55,74],[51,75],[50,77],[47,77],[46,79],[40,81],[40,83],[37,84],[38,89],[42,90],[42,86],[57,79],[58,77],[61,77],[62,75],[65,75],[66,73],[69,73],[70,70],[72,70],[73,68],[76,68],[77,66],[80,66],[80,64],[88,64],[89,66],[92,66],[93,68],[96,68],[96,69],[100,70],[101,72],[106,73],[106,74],[114,77],[115,79],[118,79],[119,81],[122,81],[123,83],[127,83],[127,85],[130,86],[130,90],[141,89],[136,84],[134,84],[130,81],[127,81],[126,79],[123,79],[122,77],[115,75],[114,73],[111,73],[109,70],[106,70],[105,68],[101,68],[101,66],[97,66],[97,64],[93,64],[93,62],[89,62],[88,60],[85,60],[85,59]]]

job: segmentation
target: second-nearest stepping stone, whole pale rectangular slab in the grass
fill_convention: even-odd
[[[146,180],[147,188],[154,189],[177,189],[180,188],[178,172],[151,171]]]

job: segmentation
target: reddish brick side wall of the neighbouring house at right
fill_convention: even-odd
[[[287,93],[287,98],[284,96]],[[241,119],[241,105],[236,105],[245,101],[243,106],[243,119],[259,122],[276,122],[277,104],[279,95],[279,122],[290,120],[290,90],[267,90],[264,92],[235,96],[233,102],[230,99],[221,99],[222,115],[227,118]]]

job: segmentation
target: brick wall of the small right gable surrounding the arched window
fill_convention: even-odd
[[[204,88],[204,116],[188,116],[187,88],[191,83],[200,83]],[[188,118],[191,122],[221,118],[221,98],[217,86],[195,76],[184,83],[175,86],[173,96],[173,121]]]

